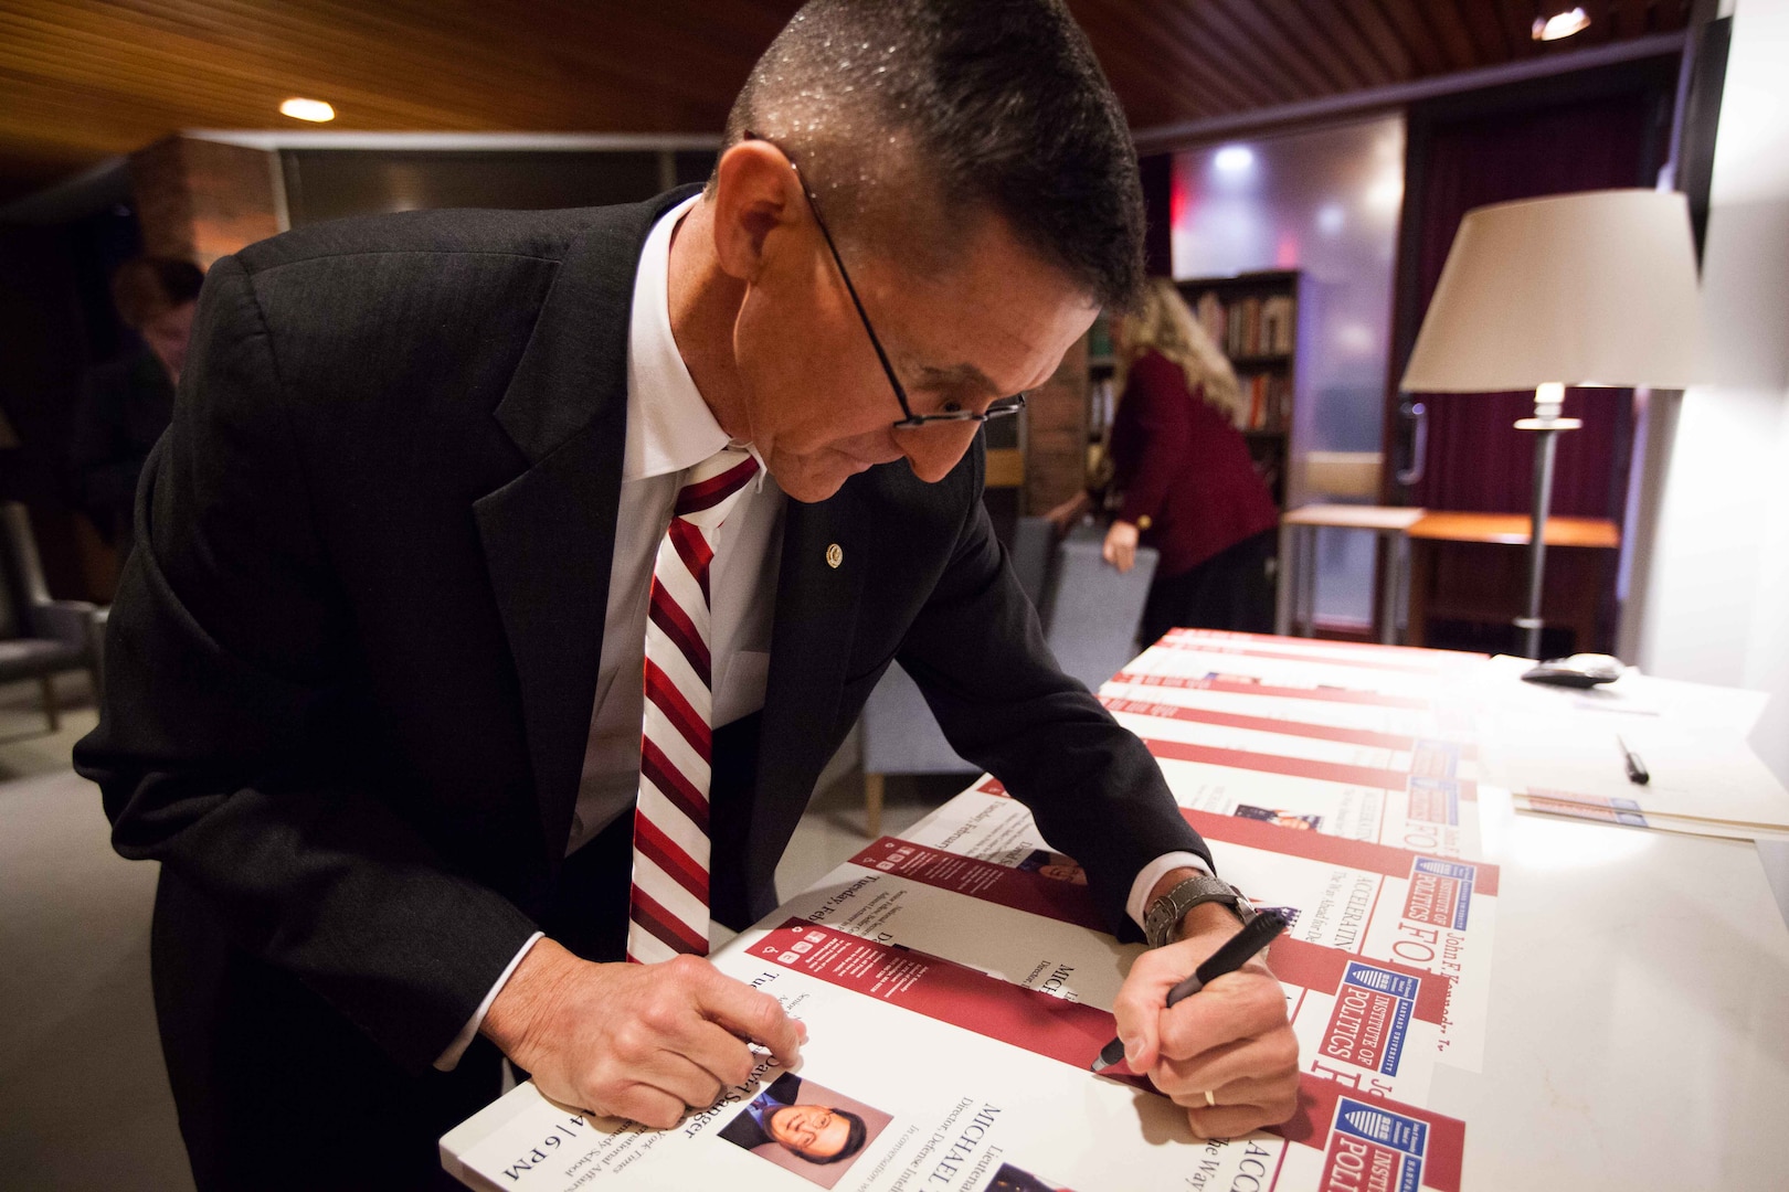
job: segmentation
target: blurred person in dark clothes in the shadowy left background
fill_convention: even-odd
[[[113,304],[143,347],[88,374],[68,452],[81,506],[120,563],[131,554],[136,479],[174,418],[204,279],[204,270],[175,257],[134,257],[113,273]]]

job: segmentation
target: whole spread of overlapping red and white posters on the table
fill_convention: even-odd
[[[714,956],[809,1028],[798,1072],[667,1131],[522,1085],[442,1140],[476,1188],[1442,1188],[1480,1070],[1497,869],[1454,699],[1476,656],[1177,631],[1102,688],[1218,872],[1292,926],[1268,963],[1304,1069],[1297,1115],[1227,1142],[1131,1076],[1093,1076],[1140,947],[1104,931],[1073,842],[984,776]],[[1118,1069],[1122,1072],[1122,1067]]]

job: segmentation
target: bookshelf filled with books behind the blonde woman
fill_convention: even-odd
[[[1249,443],[1249,456],[1272,490],[1274,504],[1285,509],[1299,347],[1299,272],[1195,277],[1175,286],[1236,368],[1247,402],[1236,429]],[[1086,345],[1088,475],[1097,477],[1118,407],[1118,359],[1106,315],[1088,331]]]

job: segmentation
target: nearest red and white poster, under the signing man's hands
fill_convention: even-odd
[[[1168,1099],[1088,1070],[1109,1013],[914,949],[801,924],[750,931],[716,965],[803,1019],[800,1070],[766,1062],[664,1131],[522,1085],[442,1140],[447,1171],[530,1190],[1460,1187],[1462,1122],[1320,1078],[1276,1131],[1195,1138]]]

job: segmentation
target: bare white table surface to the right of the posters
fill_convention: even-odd
[[[1789,1187],[1789,929],[1755,845],[1481,804],[1503,867],[1467,1188]]]

